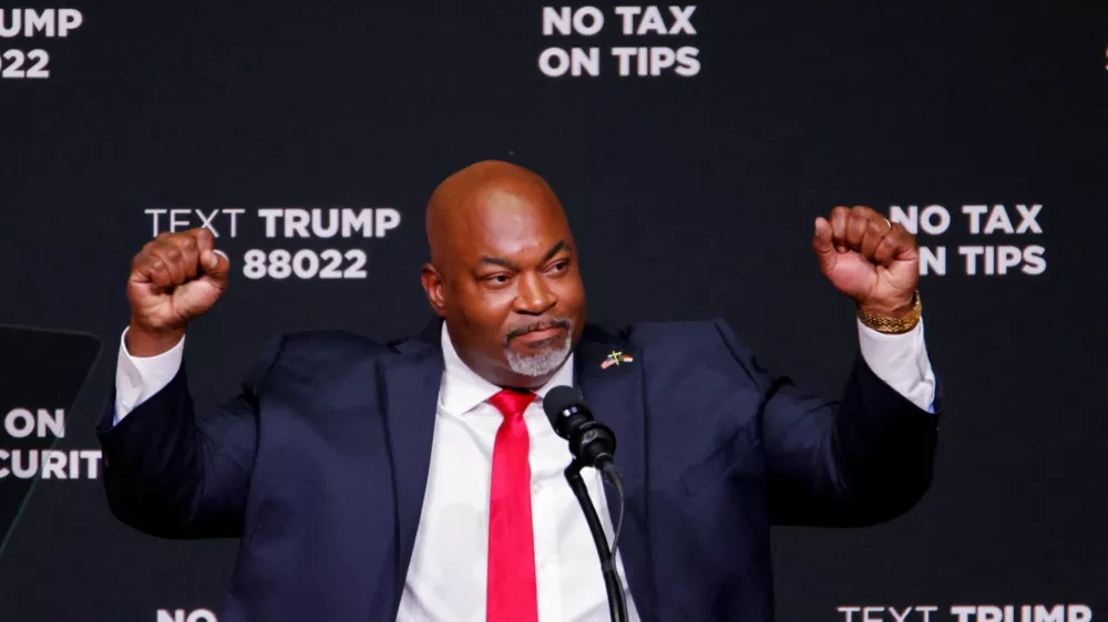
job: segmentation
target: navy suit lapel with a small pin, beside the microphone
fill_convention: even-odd
[[[614,353],[629,356],[630,361],[602,367]],[[574,364],[585,402],[597,421],[616,435],[616,466],[623,474],[626,494],[618,552],[638,611],[648,620],[652,618],[648,612],[654,611],[654,590],[646,502],[648,474],[642,353],[616,335],[586,326]],[[614,526],[619,520],[619,499],[612,487],[605,486],[604,491]]]

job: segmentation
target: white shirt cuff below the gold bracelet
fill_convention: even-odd
[[[920,408],[935,412],[935,372],[923,342],[923,319],[906,333],[880,333],[858,322],[862,359],[873,373]]]

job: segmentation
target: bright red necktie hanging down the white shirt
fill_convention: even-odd
[[[489,496],[486,622],[537,622],[535,537],[531,526],[531,437],[523,411],[530,391],[505,388],[489,398],[504,415],[492,450]]]

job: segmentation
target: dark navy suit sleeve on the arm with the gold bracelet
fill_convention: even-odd
[[[858,355],[841,402],[803,394],[762,369],[721,321],[728,349],[762,395],[770,519],[864,526],[912,508],[931,485],[936,413],[920,410]]]

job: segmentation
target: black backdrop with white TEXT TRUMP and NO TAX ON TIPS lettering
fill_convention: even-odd
[[[37,7],[69,30],[0,37],[0,321],[89,333],[102,350],[72,407],[70,350],[0,353],[0,383],[33,369],[21,384],[58,387],[0,415],[66,408],[57,448],[96,447],[129,261],[154,232],[146,210],[189,210],[158,214],[163,230],[203,211],[236,266],[189,332],[194,394],[209,405],[274,333],[417,330],[423,205],[479,159],[529,166],[560,194],[592,320],[722,317],[827,395],[856,339],[811,255],[812,219],[863,204],[910,224],[916,206],[941,226],[945,210],[945,230],[920,235],[946,252],[945,273],[921,284],[948,411],[933,489],[884,526],[777,530],[778,618],[1108,614],[1108,3],[717,1],[675,34],[624,34],[615,6],[595,6],[594,35],[544,35],[543,4],[522,0]],[[20,7],[2,8],[0,35]],[[624,46],[691,48],[697,71],[640,76],[632,62],[619,75]],[[546,75],[548,48],[597,48],[598,75]],[[34,65],[49,76],[20,77]],[[987,206],[968,208],[986,210],[976,232],[975,205]],[[267,237],[259,216],[330,208],[394,226]],[[243,210],[234,237],[234,212],[209,216],[227,209]],[[311,278],[273,278],[283,250]],[[1008,260],[1005,273],[985,255]],[[351,278],[320,278],[328,263]],[[19,446],[0,428],[0,447]],[[0,478],[0,495],[23,499],[24,484]],[[235,542],[132,531],[88,473],[42,479],[21,507],[0,554],[0,620],[215,620]],[[919,605],[937,610],[904,613]]]

